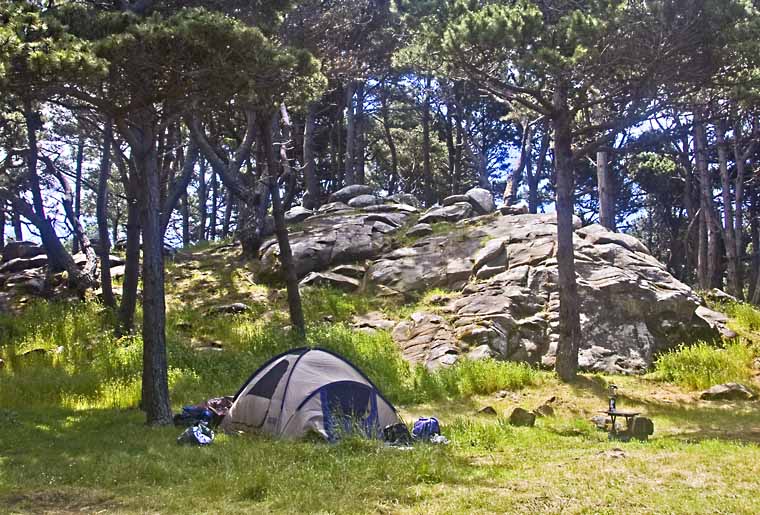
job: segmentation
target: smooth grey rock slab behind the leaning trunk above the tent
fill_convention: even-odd
[[[346,206],[303,221],[303,229],[290,235],[290,246],[299,278],[336,265],[375,258],[390,250],[392,236],[411,214],[406,210],[365,212]],[[262,245],[262,272],[279,275],[279,246],[275,239]]]

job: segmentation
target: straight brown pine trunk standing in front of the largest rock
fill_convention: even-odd
[[[559,343],[556,370],[562,381],[578,371],[581,325],[573,254],[574,172],[567,84],[560,80],[552,98],[554,162],[557,175],[557,268],[559,273]]]

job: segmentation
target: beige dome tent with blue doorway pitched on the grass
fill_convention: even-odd
[[[345,358],[326,349],[299,348],[253,373],[221,427],[286,438],[314,432],[334,442],[346,434],[381,438],[384,427],[400,422],[393,405]]]

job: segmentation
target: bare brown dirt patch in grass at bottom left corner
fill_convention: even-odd
[[[73,515],[110,513],[118,507],[112,495],[87,489],[11,493],[0,505],[12,514]]]

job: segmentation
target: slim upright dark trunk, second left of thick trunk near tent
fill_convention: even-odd
[[[103,146],[100,156],[98,173],[98,197],[95,206],[95,217],[98,223],[98,238],[100,245],[100,288],[103,292],[103,304],[109,308],[116,306],[111,285],[111,241],[108,237],[108,180],[111,175],[111,141],[113,140],[113,125],[110,118],[105,121],[103,129]]]

